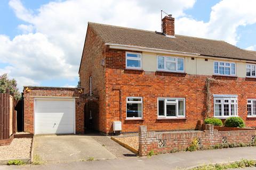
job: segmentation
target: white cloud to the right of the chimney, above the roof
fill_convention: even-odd
[[[237,28],[240,25],[256,23],[255,6],[256,1],[254,0],[223,0],[212,7],[209,22],[196,21],[186,17],[180,18],[176,22],[176,32],[225,40],[236,45],[239,40]]]

